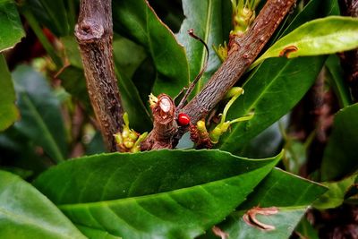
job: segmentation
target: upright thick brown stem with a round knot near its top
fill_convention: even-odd
[[[116,151],[113,134],[122,129],[123,108],[115,78],[110,0],[81,0],[75,36],[80,45],[90,102],[107,149]]]

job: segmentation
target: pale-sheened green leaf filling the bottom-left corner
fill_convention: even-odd
[[[0,171],[0,237],[86,238],[47,197],[4,171]]]

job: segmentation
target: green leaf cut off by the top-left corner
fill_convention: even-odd
[[[0,52],[25,37],[19,13],[12,0],[0,0]]]

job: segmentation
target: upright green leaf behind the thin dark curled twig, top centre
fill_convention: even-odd
[[[198,82],[197,90],[200,90],[221,64],[212,46],[223,44],[224,40],[228,38],[229,32],[224,32],[223,25],[231,26],[231,12],[224,13],[224,10],[231,10],[226,6],[230,4],[230,1],[221,0],[183,1],[183,12],[186,19],[183,21],[177,37],[188,55],[191,80],[203,68],[207,53],[205,47],[199,41],[188,35],[187,30],[193,29],[195,34],[209,46],[208,69]],[[228,21],[226,21],[227,16],[230,16]]]

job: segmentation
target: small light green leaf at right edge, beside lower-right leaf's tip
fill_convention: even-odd
[[[342,205],[345,201],[345,193],[354,185],[358,174],[351,175],[338,182],[322,183],[328,187],[328,192],[324,193],[314,202],[313,207],[316,209],[334,209]]]

